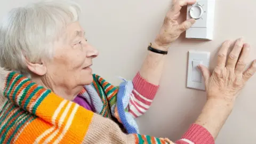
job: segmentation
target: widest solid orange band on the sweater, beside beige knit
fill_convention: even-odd
[[[82,143],[92,122],[93,115],[92,111],[79,106],[72,124],[60,143],[67,143],[67,141],[69,143]]]

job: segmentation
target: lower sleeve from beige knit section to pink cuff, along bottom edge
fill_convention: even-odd
[[[85,143],[174,143],[167,138],[142,134],[125,134],[108,118],[94,114],[85,136]],[[214,144],[211,134],[200,125],[193,124],[176,144]]]

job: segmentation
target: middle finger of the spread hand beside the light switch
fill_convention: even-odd
[[[227,66],[226,66],[227,68],[235,69],[236,62],[238,60],[239,54],[242,51],[243,45],[244,45],[243,38],[237,39],[233,50],[229,54]]]

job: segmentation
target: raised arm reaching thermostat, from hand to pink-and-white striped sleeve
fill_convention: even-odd
[[[194,19],[189,19],[182,23],[178,23],[177,21],[181,7],[186,6],[187,4],[194,4],[195,2],[195,0],[173,1],[173,6],[167,12],[163,26],[151,47],[161,51],[168,51],[171,43],[174,42],[183,31],[187,30],[195,23]],[[151,105],[158,90],[165,57],[165,54],[148,51],[147,57],[144,60],[139,73],[134,77],[134,90],[129,103],[129,112],[134,117],[144,114]]]

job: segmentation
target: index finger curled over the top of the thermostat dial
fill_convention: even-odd
[[[191,1],[189,1],[189,0],[179,0],[179,1],[175,1],[173,3],[173,6],[172,6],[171,10],[168,12],[167,17],[171,19],[173,17],[173,14],[177,14],[177,13],[180,12],[182,6],[185,6],[187,4],[194,4],[194,3],[196,3],[196,0],[191,0]]]

